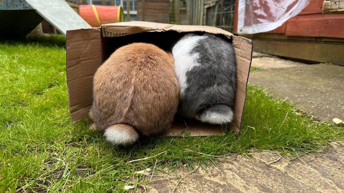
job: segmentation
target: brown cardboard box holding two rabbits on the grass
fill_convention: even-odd
[[[67,31],[67,86],[72,122],[88,116],[92,105],[93,76],[97,68],[117,48],[133,43],[153,43],[170,50],[171,45],[186,32],[208,32],[223,35],[233,43],[237,61],[237,91],[235,118],[230,124],[235,132],[240,130],[246,99],[246,87],[252,59],[252,42],[244,37],[209,26],[171,25],[151,22],[121,22],[101,27]],[[175,120],[166,133],[174,136],[188,129],[191,135],[222,134],[221,126],[191,120]]]

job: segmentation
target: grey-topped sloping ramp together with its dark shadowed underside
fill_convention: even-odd
[[[0,36],[30,33],[43,19],[66,35],[67,30],[91,27],[63,0],[2,0]]]

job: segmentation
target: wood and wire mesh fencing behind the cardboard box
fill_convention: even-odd
[[[67,0],[75,4],[121,5],[125,21],[208,25],[233,32],[235,0]],[[129,2],[129,7],[127,7]],[[128,14],[129,10],[129,14]]]

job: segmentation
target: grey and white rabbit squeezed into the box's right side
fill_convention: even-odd
[[[232,44],[213,34],[186,34],[172,54],[180,86],[179,113],[210,124],[231,122],[237,78]]]

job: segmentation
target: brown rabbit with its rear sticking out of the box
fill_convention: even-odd
[[[146,43],[118,48],[93,81],[90,117],[112,144],[132,144],[138,133],[159,134],[170,127],[179,103],[171,53]]]

